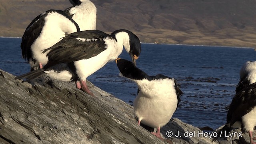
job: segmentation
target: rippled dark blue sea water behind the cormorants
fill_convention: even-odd
[[[30,70],[22,59],[20,42],[20,38],[0,38],[0,69],[16,76]],[[119,57],[131,60],[125,50]],[[149,75],[173,77],[180,84],[184,94],[173,118],[215,129],[226,122],[240,68],[249,60],[256,60],[253,48],[142,44],[137,67]],[[129,104],[137,94],[137,85],[119,76],[115,62],[106,64],[88,80]]]

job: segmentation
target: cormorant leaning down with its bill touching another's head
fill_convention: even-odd
[[[47,54],[49,61],[42,69],[23,74],[16,79],[32,80],[45,71],[49,72],[56,64],[66,63],[71,70],[67,74],[69,81],[76,81],[77,88],[93,95],[86,85],[86,78],[107,62],[115,60],[121,54],[123,46],[136,65],[136,59],[141,52],[140,40],[129,30],[116,30],[110,35],[100,30],[74,32],[43,51],[50,52]]]

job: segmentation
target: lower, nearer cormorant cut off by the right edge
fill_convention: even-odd
[[[240,92],[238,92],[229,107],[227,114],[227,123],[218,130],[218,137],[224,131],[228,134],[232,128],[242,128],[244,132],[248,132],[250,136],[250,144],[256,144],[252,136],[254,127],[256,126],[256,83],[250,84]],[[214,138],[216,140],[218,137]]]

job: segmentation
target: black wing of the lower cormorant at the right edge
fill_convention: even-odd
[[[256,106],[256,83],[238,92],[229,107],[227,122],[232,126],[236,121],[241,121],[242,116],[250,112]]]

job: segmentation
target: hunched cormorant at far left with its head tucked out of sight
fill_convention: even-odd
[[[78,24],[62,10],[48,10],[34,18],[26,28],[20,44],[22,56],[31,70],[42,68],[48,62],[48,52],[42,53],[42,50],[79,30]]]

